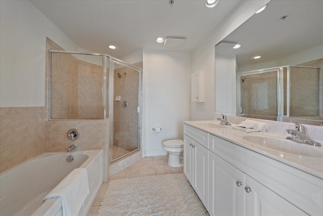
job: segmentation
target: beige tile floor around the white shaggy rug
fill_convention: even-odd
[[[107,182],[103,182],[99,192],[97,193],[92,206],[87,216],[97,215],[101,201],[108,189],[109,182],[112,179],[130,178],[138,176],[150,176],[160,174],[171,174],[176,172],[183,172],[182,167],[171,167],[167,164],[168,155],[152,156],[140,159],[138,162],[118,172],[116,175],[109,178]]]

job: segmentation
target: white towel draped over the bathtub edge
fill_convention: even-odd
[[[89,194],[89,183],[87,170],[76,168],[65,177],[54,189],[52,189],[44,200],[61,197],[63,216],[78,215],[85,198]]]

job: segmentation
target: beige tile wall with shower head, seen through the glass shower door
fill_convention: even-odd
[[[134,65],[142,68],[142,62]],[[118,72],[127,74],[119,78]],[[114,98],[121,96],[121,101],[114,101],[114,145],[132,151],[138,147],[138,72],[127,67],[115,69],[114,88]],[[123,101],[128,102],[126,108]]]

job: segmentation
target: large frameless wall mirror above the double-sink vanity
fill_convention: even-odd
[[[322,123],[322,11],[323,1],[271,1],[216,46],[216,55],[236,63],[238,115]]]

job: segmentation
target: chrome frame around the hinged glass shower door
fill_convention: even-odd
[[[109,56],[107,56],[109,57]],[[114,144],[114,109],[113,109],[113,103],[114,103],[114,64],[120,64],[124,67],[128,67],[132,70],[135,70],[139,73],[139,83],[138,83],[138,107],[137,107],[137,113],[138,113],[138,146],[136,149],[122,155],[119,156],[115,159],[113,159],[113,144]],[[142,69],[139,67],[136,67],[134,65],[130,65],[122,60],[110,57],[110,62],[109,62],[109,116],[110,116],[110,123],[109,123],[109,131],[110,131],[110,142],[109,142],[109,146],[110,146],[110,160],[109,163],[113,163],[115,161],[118,161],[128,155],[133,154],[136,151],[141,150],[141,125],[142,125]]]

